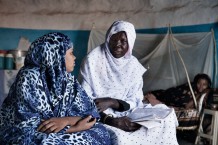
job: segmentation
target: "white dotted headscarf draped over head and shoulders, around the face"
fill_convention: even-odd
[[[109,40],[113,34],[124,31],[128,39],[128,51],[115,58],[109,51]],[[81,67],[82,85],[95,98],[111,97],[128,102],[136,107],[142,101],[142,75],[146,69],[132,55],[136,38],[134,26],[125,21],[116,21],[106,34],[105,43],[93,49]]]

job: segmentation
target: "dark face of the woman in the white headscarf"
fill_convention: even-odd
[[[123,57],[128,51],[128,40],[124,31],[113,34],[109,41],[110,53],[115,58]]]

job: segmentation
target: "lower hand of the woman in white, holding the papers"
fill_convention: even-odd
[[[141,125],[131,122],[126,116],[113,118],[110,122],[108,122],[108,124],[128,132],[136,131],[141,127]]]

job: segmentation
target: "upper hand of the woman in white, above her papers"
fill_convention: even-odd
[[[99,112],[103,112],[107,110],[108,108],[113,108],[113,109],[119,108],[119,102],[116,99],[98,98],[98,99],[95,99],[94,101],[95,101],[95,104]]]

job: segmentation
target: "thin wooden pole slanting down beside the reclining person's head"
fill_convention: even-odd
[[[183,67],[184,67],[184,69],[185,69],[185,74],[186,74],[186,77],[187,77],[187,80],[188,80],[188,85],[189,85],[189,88],[190,88],[190,90],[191,90],[191,94],[192,94],[192,96],[193,96],[193,100],[194,100],[195,107],[197,108],[197,101],[196,101],[196,97],[195,97],[195,94],[194,94],[194,92],[193,92],[193,89],[192,89],[192,86],[191,86],[191,83],[190,83],[189,75],[188,75],[187,69],[186,69],[186,67],[185,67],[185,63],[184,63],[184,61],[183,61],[183,59],[182,59],[182,56],[180,55],[179,50],[177,49],[177,47],[176,47],[176,45],[175,45],[175,43],[174,43],[173,34],[172,34],[172,30],[171,30],[171,27],[170,27],[170,26],[169,26],[169,30],[170,30],[170,38],[171,38],[171,40],[172,40],[172,42],[173,42],[173,46],[175,47],[175,49],[176,49],[176,51],[177,51],[177,53],[178,53],[178,55],[179,55],[179,58],[180,58],[180,60],[181,60],[181,62],[182,62],[182,65],[183,65]]]

